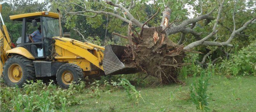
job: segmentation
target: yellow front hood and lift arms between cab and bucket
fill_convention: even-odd
[[[100,64],[103,60],[103,53],[102,49],[98,46],[88,45],[86,43],[73,40],[70,38],[65,37],[53,37],[55,39],[55,54],[58,57],[61,56],[77,56],[82,59],[56,59],[60,62],[68,62],[68,63],[75,63],[80,68],[83,69],[83,71],[90,71],[91,66],[90,63],[94,64],[101,70],[103,70],[102,64]],[[89,50],[92,50],[93,52],[89,52]],[[98,50],[97,50],[98,49]]]

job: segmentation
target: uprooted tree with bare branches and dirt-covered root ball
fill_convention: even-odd
[[[122,59],[123,63],[128,64],[129,66],[135,66],[148,75],[159,78],[161,83],[181,83],[181,81],[177,79],[177,69],[185,65],[185,63],[183,63],[183,58],[186,52],[196,52],[192,49],[197,46],[218,46],[217,48],[210,50],[203,57],[200,63],[205,63],[207,56],[216,49],[221,49],[224,46],[232,47],[233,45],[230,43],[232,39],[236,35],[242,35],[240,32],[249,24],[255,23],[256,19],[256,17],[251,16],[251,19],[237,28],[235,21],[237,1],[232,1],[235,4],[232,12],[233,30],[230,31],[231,35],[229,35],[229,38],[225,41],[223,41],[223,39],[222,41],[216,41],[218,37],[213,41],[209,41],[212,40],[211,37],[217,34],[218,25],[220,24],[220,21],[225,18],[222,16],[222,9],[224,4],[229,2],[227,0],[215,2],[212,4],[212,7],[209,7],[209,9],[212,10],[208,12],[203,11],[202,2],[199,0],[200,13],[197,17],[186,20],[176,19],[173,21],[170,21],[172,9],[168,6],[168,4],[172,3],[163,0],[162,4],[164,8],[162,8],[162,21],[160,25],[158,24],[159,26],[152,27],[149,27],[148,23],[153,21],[156,15],[159,15],[158,13],[161,11],[161,8],[158,8],[154,15],[142,23],[134,17],[138,16],[138,13],[137,15],[134,15],[134,13],[132,14],[130,12],[136,5],[142,5],[139,4],[141,1],[131,0],[128,3],[122,2],[125,1],[94,0],[94,3],[91,3],[91,5],[97,4],[97,6],[101,7],[101,10],[95,10],[97,8],[93,8],[93,6],[88,5],[89,3],[85,1],[52,1],[52,3],[63,7],[67,15],[77,15],[86,18],[95,18],[98,15],[109,15],[126,23],[126,25],[128,25],[127,36],[113,33],[126,38],[129,42],[129,49]],[[70,4],[70,6],[67,5],[67,3]],[[184,5],[185,4],[182,4],[183,8]],[[79,11],[71,10],[74,8],[78,8]],[[203,12],[206,14],[203,14]],[[213,13],[217,14],[213,16]],[[201,21],[204,21],[205,26],[209,24],[213,25],[212,30],[204,37],[202,37],[202,33],[198,33],[193,29],[198,22]],[[138,30],[138,28],[140,30]],[[170,39],[170,36],[177,33],[180,34],[180,39],[175,43]],[[188,34],[192,34],[195,37],[195,41],[185,44],[187,40],[186,35]]]

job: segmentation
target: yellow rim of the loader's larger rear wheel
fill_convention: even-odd
[[[11,64],[11,66],[8,68],[8,77],[11,80],[11,82],[19,82],[22,78],[22,69],[19,66],[19,64]]]

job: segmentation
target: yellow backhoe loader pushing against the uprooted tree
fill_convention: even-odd
[[[119,59],[127,49],[124,46],[101,47],[69,38],[62,33],[59,13],[48,11],[10,16],[22,22],[17,47],[11,47],[10,34],[1,16],[1,73],[7,86],[22,87],[26,80],[56,76],[57,84],[68,88],[87,76],[136,73]],[[1,14],[0,14],[1,15]],[[40,27],[39,27],[40,26]],[[41,29],[41,41],[32,42],[28,28]]]

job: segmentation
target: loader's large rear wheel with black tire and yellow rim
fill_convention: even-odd
[[[33,62],[24,56],[12,56],[4,63],[3,75],[4,83],[7,86],[22,87],[26,80],[35,78]]]

